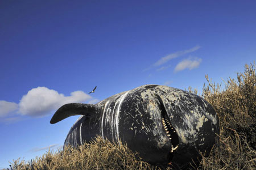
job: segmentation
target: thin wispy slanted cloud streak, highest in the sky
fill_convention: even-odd
[[[195,52],[195,50],[198,50],[200,48],[201,48],[201,46],[197,45],[197,46],[194,46],[191,49],[187,49],[187,50],[171,53],[171,54],[169,54],[166,57],[160,58],[158,61],[156,61],[153,64],[153,66],[157,67],[157,66],[163,65],[164,63],[168,62],[170,59],[173,59],[173,58],[176,58],[176,57],[179,57],[179,56],[183,56],[184,54],[187,54],[187,53]]]

